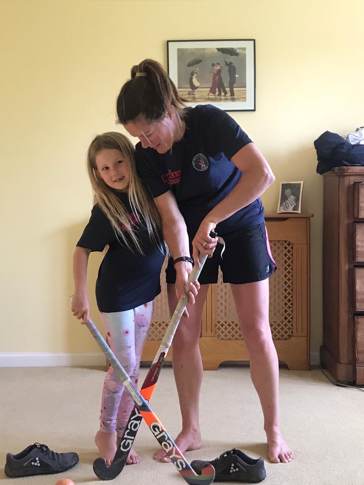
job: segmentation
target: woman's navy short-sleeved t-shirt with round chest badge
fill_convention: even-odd
[[[232,157],[248,143],[248,135],[232,117],[211,104],[184,110],[186,123],[182,140],[171,151],[159,154],[136,145],[139,176],[154,197],[171,190],[194,236],[203,218],[223,200],[244,174]],[[264,222],[260,198],[238,210],[216,226],[218,233]]]

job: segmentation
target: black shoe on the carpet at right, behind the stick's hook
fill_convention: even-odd
[[[211,461],[193,460],[191,467],[196,473],[201,473],[207,464],[215,468],[215,482],[262,482],[266,477],[264,460],[262,457],[254,460],[240,450],[232,449],[221,453]]]

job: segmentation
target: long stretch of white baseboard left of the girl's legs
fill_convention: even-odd
[[[106,365],[99,352],[5,352],[0,367],[83,367]]]

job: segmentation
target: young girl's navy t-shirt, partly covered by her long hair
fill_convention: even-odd
[[[77,246],[91,251],[103,251],[109,245],[96,281],[97,304],[99,311],[105,313],[130,310],[153,300],[161,292],[160,274],[165,259],[164,248],[156,247],[143,223],[138,222],[128,194],[118,193],[117,196],[130,214],[131,225],[144,256],[136,248],[131,251],[117,240],[109,219],[97,204],[77,243]],[[131,240],[130,245],[133,248]]]

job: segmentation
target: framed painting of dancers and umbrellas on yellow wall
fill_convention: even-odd
[[[167,58],[188,106],[255,111],[255,39],[168,40]]]

